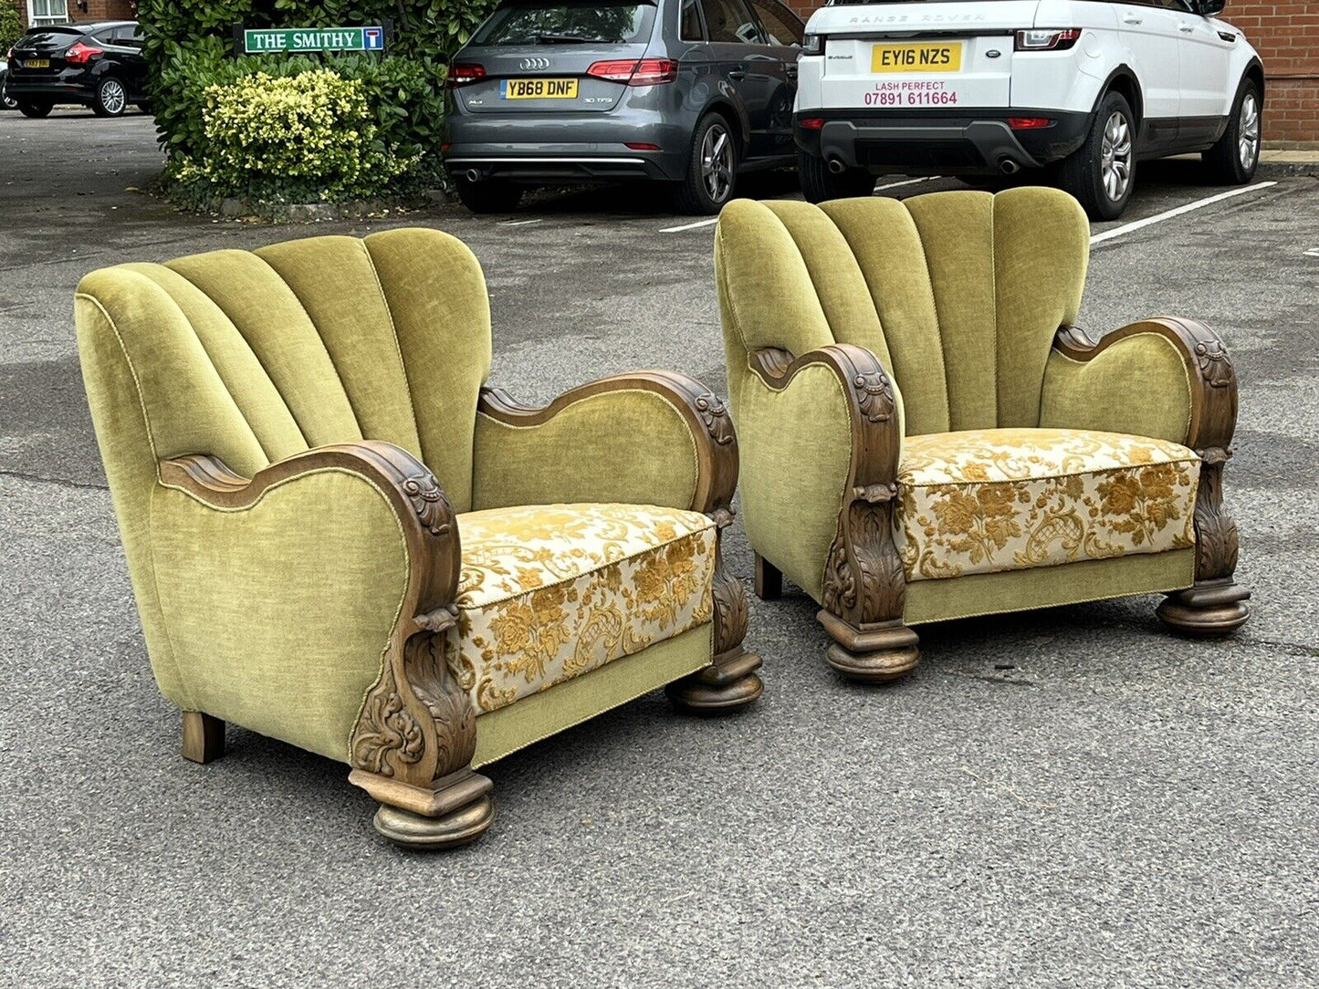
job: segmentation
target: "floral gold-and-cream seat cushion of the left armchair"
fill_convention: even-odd
[[[479,713],[714,618],[715,524],[656,505],[525,505],[458,516],[448,666]]]

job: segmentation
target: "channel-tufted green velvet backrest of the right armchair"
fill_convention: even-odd
[[[1053,189],[729,203],[715,266],[733,413],[749,349],[851,343],[893,376],[909,435],[1035,426],[1088,255],[1084,212]]]

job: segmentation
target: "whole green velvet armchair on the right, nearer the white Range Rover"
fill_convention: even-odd
[[[913,625],[1166,592],[1187,633],[1241,625],[1221,340],[1075,326],[1089,229],[1047,189],[737,200],[715,240],[756,588],[820,604],[859,680]]]

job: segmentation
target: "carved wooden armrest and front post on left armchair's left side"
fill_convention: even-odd
[[[414,823],[408,814],[445,819],[455,808],[468,808],[484,827],[492,816],[491,781],[470,769],[476,712],[445,662],[445,633],[456,621],[458,526],[430,469],[392,443],[365,440],[317,447],[270,464],[251,480],[218,458],[181,456],[161,462],[160,480],[211,508],[232,510],[256,505],[276,485],[326,469],[357,475],[384,494],[402,529],[409,567],[380,679],[367,692],[352,731],[348,779],[401,808],[386,807],[383,818],[377,815],[377,828],[394,840],[412,840],[408,828]]]

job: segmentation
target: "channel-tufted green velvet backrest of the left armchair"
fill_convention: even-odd
[[[82,280],[77,322],[121,508],[137,501],[127,479],[148,480],[168,458],[210,454],[252,476],[355,439],[404,447],[455,509],[471,505],[489,303],[476,258],[447,233],[393,229],[117,265]]]

